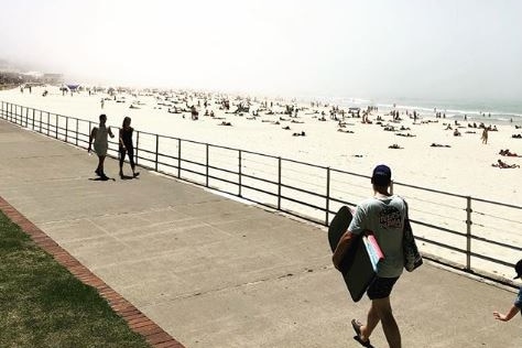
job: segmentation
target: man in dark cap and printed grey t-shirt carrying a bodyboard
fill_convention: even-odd
[[[352,319],[351,325],[357,334],[356,339],[368,347],[373,329],[381,322],[389,346],[401,347],[401,333],[393,317],[390,294],[404,268],[402,239],[407,206],[403,198],[389,193],[391,170],[387,165],[376,166],[371,184],[373,197],[358,205],[348,230],[337,244],[333,262],[339,269],[355,236],[368,230],[374,233],[384,259],[378,264],[377,278],[367,292],[371,300],[367,323]]]

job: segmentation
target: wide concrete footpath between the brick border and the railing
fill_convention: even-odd
[[[0,163],[1,197],[186,347],[360,347],[369,301],[349,300],[324,228],[143,170],[95,181],[96,156],[3,120]],[[492,317],[514,297],[426,263],[392,304],[404,347],[521,347],[521,317]],[[380,326],[371,340],[388,347]]]

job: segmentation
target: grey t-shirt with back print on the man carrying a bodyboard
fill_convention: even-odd
[[[404,268],[402,236],[406,206],[399,196],[369,198],[357,206],[348,230],[360,235],[365,230],[373,232],[381,247],[384,260],[379,262],[377,275],[396,278]]]

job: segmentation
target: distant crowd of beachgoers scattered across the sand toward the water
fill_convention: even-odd
[[[75,93],[79,93],[80,89]],[[100,90],[89,89],[89,95],[99,94]],[[128,104],[129,109],[141,109],[146,106],[140,98],[153,97],[155,102],[149,105],[154,109],[164,109],[167,113],[180,115],[193,121],[199,121],[203,118],[213,119],[217,126],[232,127],[236,122],[230,120],[231,117],[244,117],[249,121],[268,122],[274,126],[282,126],[281,129],[289,132],[292,137],[306,137],[313,133],[313,121],[333,121],[336,124],[336,131],[344,134],[354,134],[358,131],[356,123],[368,127],[379,126],[383,131],[394,133],[404,140],[406,138],[415,138],[416,132],[410,123],[407,127],[404,120],[409,119],[413,127],[421,124],[437,123],[438,119],[444,119],[444,130],[452,131],[453,137],[463,138],[467,134],[475,134],[476,130],[481,130],[480,140],[482,144],[489,143],[490,132],[498,131],[497,124],[487,126],[483,121],[472,121],[465,115],[464,119],[455,119],[455,116],[447,116],[446,112],[434,109],[433,115],[421,115],[417,110],[391,109],[388,112],[380,111],[376,106],[368,107],[339,107],[328,102],[311,101],[308,106],[297,104],[294,100],[289,102],[283,99],[259,100],[250,97],[230,97],[224,94],[210,94],[198,91],[168,91],[168,90],[141,90],[130,91],[111,89],[110,91],[101,91],[104,97],[100,100],[100,108],[105,109],[107,102]],[[134,100],[131,101],[131,98]],[[219,117],[218,117],[219,115]],[[481,113],[482,115],[482,113]],[[487,113],[483,113],[486,116]],[[435,119],[433,119],[435,118]],[[453,120],[452,120],[453,118]],[[448,120],[452,120],[450,122]],[[464,120],[467,123],[461,124]],[[311,124],[312,123],[312,124]],[[297,126],[304,124],[297,128]],[[466,127],[467,126],[467,127]],[[522,126],[513,124],[515,129]],[[295,129],[297,128],[297,129]],[[513,139],[522,139],[522,134],[512,134]],[[402,143],[389,143],[388,149],[401,150],[407,148],[406,140]],[[428,143],[429,144],[429,143]],[[454,143],[455,145],[455,143]],[[452,148],[449,144],[431,142],[432,148]],[[502,160],[492,164],[499,168],[515,168],[518,163],[504,163]]]

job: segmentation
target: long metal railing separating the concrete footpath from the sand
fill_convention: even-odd
[[[83,149],[96,126],[4,101],[0,110],[4,120]],[[143,131],[135,131],[134,151],[142,167],[323,226],[370,188],[367,175]],[[118,156],[118,142],[109,142],[109,155]],[[521,206],[399,182],[392,189],[409,200],[425,258],[513,285],[509,275],[522,251]]]

